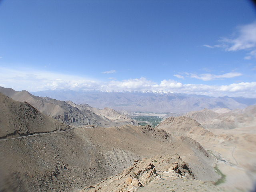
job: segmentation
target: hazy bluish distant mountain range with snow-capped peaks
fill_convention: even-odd
[[[48,96],[58,100],[70,100],[76,104],[87,103],[96,108],[110,107],[132,112],[186,113],[204,108],[246,108],[256,104],[256,98],[210,97],[164,92],[101,92],[46,90],[32,92],[36,96]]]

